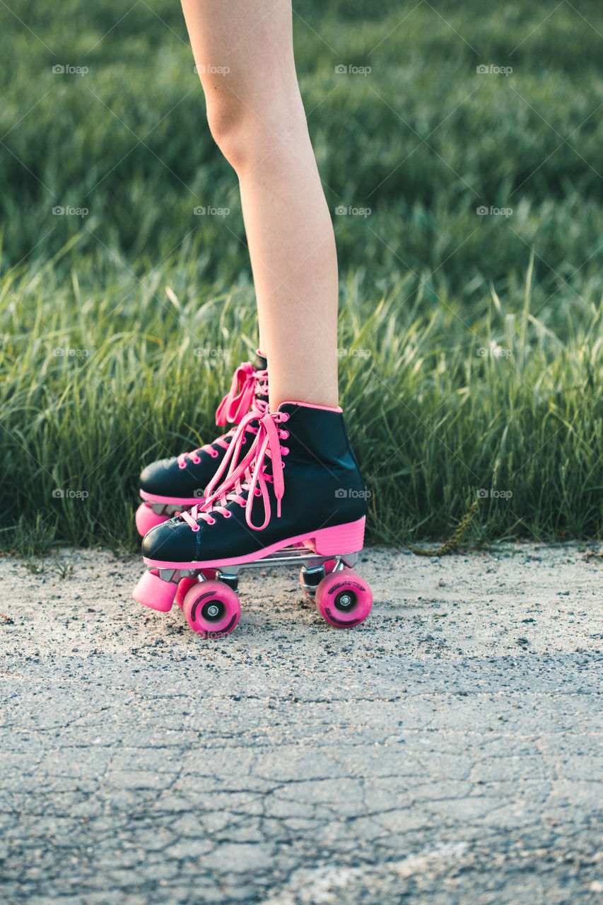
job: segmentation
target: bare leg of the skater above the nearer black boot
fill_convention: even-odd
[[[295,72],[291,0],[182,8],[209,129],[239,179],[271,410],[288,399],[338,405],[337,255]]]

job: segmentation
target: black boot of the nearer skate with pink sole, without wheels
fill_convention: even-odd
[[[245,415],[206,491],[148,531],[149,567],[225,566],[291,545],[323,555],[362,548],[366,493],[340,408],[285,402]]]

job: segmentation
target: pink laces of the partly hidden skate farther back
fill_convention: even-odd
[[[267,411],[268,403],[263,399],[257,399],[257,394],[268,395],[268,372],[256,371],[251,361],[244,361],[237,367],[228,393],[215,410],[215,424],[219,426],[228,422],[238,424],[252,406],[256,412]],[[249,428],[249,430],[255,433],[254,428]],[[236,428],[232,427],[230,431],[217,437],[213,443],[204,443],[203,446],[199,446],[192,452],[181,452],[177,456],[178,468],[186,468],[187,459],[190,459],[194,465],[198,465],[201,462],[199,452],[207,452],[212,459],[217,459],[220,453],[214,448],[214,444],[227,450],[235,436],[235,431]],[[230,443],[229,437],[231,438]]]

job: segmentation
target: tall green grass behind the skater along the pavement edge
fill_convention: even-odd
[[[254,348],[236,177],[206,128],[180,8],[123,10],[24,2],[24,28],[0,8],[0,546],[28,556],[136,549],[141,464],[213,438]],[[600,537],[598,5],[294,10],[369,539],[445,538],[480,489],[475,542]],[[476,73],[491,63],[512,75]],[[67,489],[80,496],[53,496]]]

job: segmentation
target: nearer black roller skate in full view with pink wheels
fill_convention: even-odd
[[[254,442],[244,452],[250,425]],[[302,589],[321,616],[358,625],[372,606],[352,567],[362,549],[366,492],[340,408],[285,402],[250,412],[235,429],[206,499],[148,531],[148,571],[133,595],[168,612],[176,600],[192,630],[233,631],[246,568],[302,567]]]

